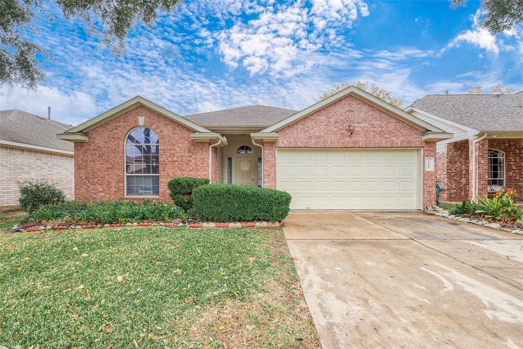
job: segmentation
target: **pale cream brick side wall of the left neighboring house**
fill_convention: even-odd
[[[0,147],[0,210],[18,206],[18,181],[48,181],[74,199],[72,155]]]

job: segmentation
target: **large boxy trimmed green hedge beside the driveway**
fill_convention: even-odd
[[[208,184],[192,191],[194,212],[202,221],[281,221],[289,214],[291,196],[248,185]]]

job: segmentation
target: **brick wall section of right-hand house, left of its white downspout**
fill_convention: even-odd
[[[449,189],[442,192],[441,200],[462,201],[469,197],[470,164],[469,140],[447,144],[447,151],[438,154],[440,166],[445,164],[445,182]],[[439,173],[438,173],[438,179]]]

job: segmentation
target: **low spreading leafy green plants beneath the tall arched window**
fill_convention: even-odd
[[[57,205],[43,205],[27,216],[24,221],[71,220],[82,222],[131,223],[146,221],[170,221],[180,218],[187,220],[187,214],[174,204],[163,204],[144,200],[94,201],[78,203],[66,201]]]

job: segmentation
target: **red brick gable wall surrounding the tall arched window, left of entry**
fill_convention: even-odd
[[[208,177],[209,143],[193,141],[190,134],[194,131],[138,106],[90,130],[87,142],[75,143],[77,200],[115,200],[124,196],[124,141],[127,133],[139,126],[139,116],[145,117],[144,126],[160,139],[159,200],[170,200],[166,184],[171,178]]]

